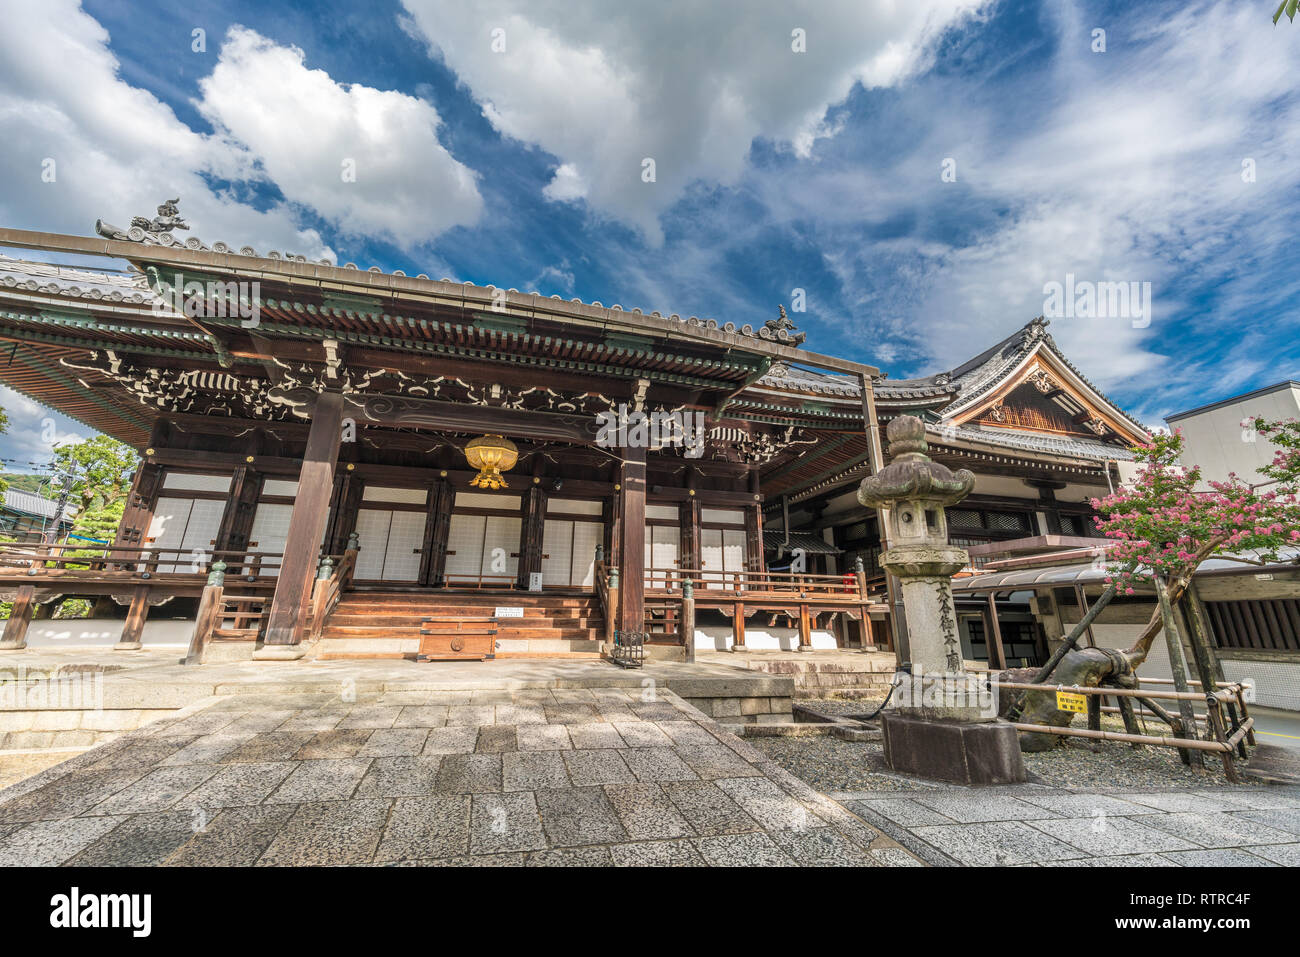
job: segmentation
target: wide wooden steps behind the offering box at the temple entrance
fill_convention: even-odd
[[[520,592],[347,592],[325,620],[316,657],[415,658],[428,616],[478,618],[497,609],[497,658],[599,658],[604,619],[588,594]]]

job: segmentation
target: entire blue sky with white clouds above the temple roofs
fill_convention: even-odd
[[[179,195],[205,242],[361,268],[737,324],[803,290],[810,348],[894,378],[1067,274],[1149,282],[1149,324],[1052,325],[1148,424],[1300,376],[1300,26],[1271,3],[13,7],[4,225]],[[0,400],[0,455],[39,459],[48,413]]]

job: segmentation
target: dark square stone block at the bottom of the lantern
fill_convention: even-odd
[[[880,727],[885,761],[897,774],[954,784],[1024,781],[1019,735],[1009,722],[916,718],[887,710]]]

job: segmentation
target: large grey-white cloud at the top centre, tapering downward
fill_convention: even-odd
[[[546,187],[659,242],[659,213],[694,179],[733,183],[767,137],[807,155],[854,83],[924,62],[978,0],[403,0],[411,21],[504,135],[563,164]],[[802,30],[806,52],[794,52]],[[655,181],[642,179],[645,159]],[[581,187],[578,186],[581,185]],[[581,190],[581,191],[580,191]]]

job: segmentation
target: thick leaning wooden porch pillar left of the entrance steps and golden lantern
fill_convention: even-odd
[[[294,514],[289,519],[289,534],[285,538],[285,558],[266,620],[265,644],[254,657],[300,658],[303,654],[296,645],[303,637],[317,553],[329,519],[342,421],[343,397],[339,393],[322,393],[312,412],[307,451],[298,476],[298,498],[294,501]]]

